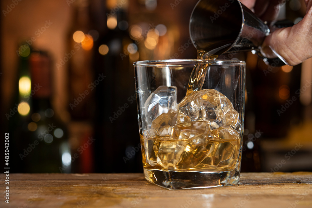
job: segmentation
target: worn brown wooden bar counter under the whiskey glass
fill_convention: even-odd
[[[312,207],[311,172],[241,173],[236,186],[189,190],[158,187],[142,173],[14,173],[9,185],[5,177],[0,207]]]

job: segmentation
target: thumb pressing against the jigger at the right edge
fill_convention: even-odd
[[[268,35],[262,44],[261,53],[267,58],[279,57],[288,65],[297,65],[311,58],[312,7],[294,26],[277,29]]]

